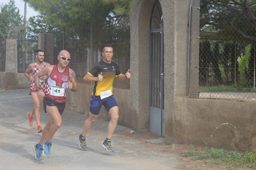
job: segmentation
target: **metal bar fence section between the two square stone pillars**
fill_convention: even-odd
[[[35,52],[38,46],[38,37],[20,37],[17,39],[18,72],[24,73],[28,65],[36,62]]]

